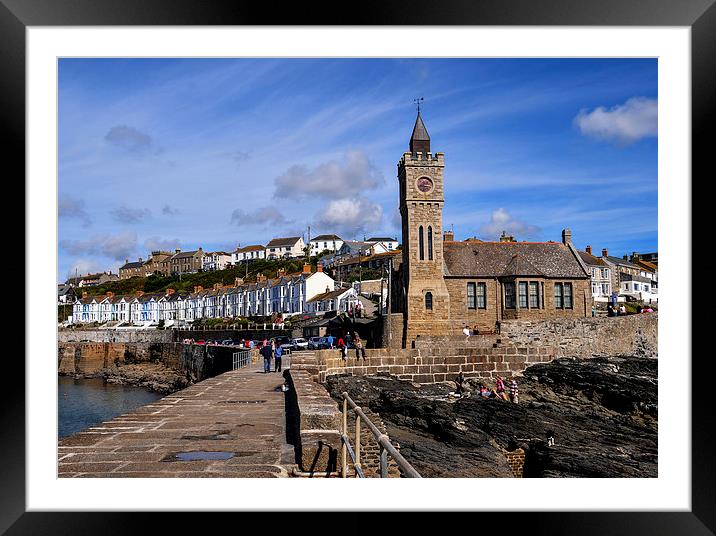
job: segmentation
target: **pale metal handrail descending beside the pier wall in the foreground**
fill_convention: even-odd
[[[348,456],[350,456],[351,461],[353,462],[353,467],[356,471],[356,475],[359,478],[365,478],[365,474],[363,473],[361,463],[360,463],[360,428],[361,428],[361,421],[365,421],[366,425],[368,426],[368,429],[373,434],[373,437],[375,437],[376,441],[378,442],[378,446],[380,447],[380,477],[381,478],[388,478],[388,454],[390,454],[393,459],[398,464],[398,467],[403,471],[406,477],[408,478],[422,478],[420,476],[420,473],[418,473],[415,468],[410,465],[410,463],[403,457],[400,452],[392,445],[390,442],[390,439],[387,435],[385,435],[383,432],[381,432],[378,427],[371,422],[371,420],[368,418],[368,416],[363,413],[363,410],[361,407],[356,404],[353,399],[348,395],[348,393],[343,392],[343,430],[341,432],[341,456],[342,456],[342,471],[341,474],[343,478],[347,477],[348,473]],[[348,437],[348,406],[350,406],[353,409],[353,412],[356,415],[356,430],[355,430],[355,445],[356,450],[355,452],[351,448],[350,438]]]

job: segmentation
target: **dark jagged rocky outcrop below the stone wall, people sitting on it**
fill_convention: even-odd
[[[505,451],[517,448],[525,477],[656,477],[656,380],[655,359],[561,358],[524,372],[519,404],[476,396],[479,379],[462,398],[449,382],[332,376],[326,385],[378,412],[426,477],[509,477]]]

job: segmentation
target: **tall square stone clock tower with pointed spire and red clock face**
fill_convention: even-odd
[[[430,152],[430,136],[418,110],[410,151],[398,162],[403,230],[404,337],[446,335],[450,296],[443,278],[445,155]]]

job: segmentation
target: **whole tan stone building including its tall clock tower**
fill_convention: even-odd
[[[569,229],[561,242],[455,241],[443,232],[444,171],[445,155],[431,152],[418,112],[398,163],[403,250],[388,321],[401,337],[391,340],[410,347],[419,336],[458,335],[465,325],[494,331],[504,319],[591,315],[589,272]]]

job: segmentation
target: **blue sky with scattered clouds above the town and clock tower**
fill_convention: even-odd
[[[457,239],[657,249],[655,59],[62,59],[58,279],[308,225],[400,240],[418,96]]]

